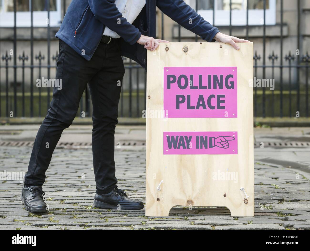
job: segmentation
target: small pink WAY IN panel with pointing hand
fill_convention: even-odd
[[[237,132],[164,132],[164,154],[237,154]]]

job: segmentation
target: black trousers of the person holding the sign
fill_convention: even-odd
[[[62,79],[62,89],[54,88],[50,108],[33,145],[24,183],[43,185],[57,142],[62,131],[76,117],[80,99],[89,83],[93,103],[92,151],[96,192],[111,192],[117,187],[114,130],[125,73],[118,39],[112,39],[109,44],[100,43],[90,61],[63,41],[60,41],[59,51],[56,79]]]

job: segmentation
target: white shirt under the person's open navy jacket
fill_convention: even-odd
[[[127,19],[127,22],[132,24],[143,9],[145,0],[116,0],[115,5],[118,11],[122,13],[123,17]],[[103,34],[113,38],[120,37],[116,32],[110,30],[108,27],[105,27]]]

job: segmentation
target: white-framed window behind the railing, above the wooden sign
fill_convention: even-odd
[[[196,9],[196,0],[185,0]],[[264,24],[263,0],[232,0],[232,25],[246,25],[246,8],[249,3],[248,24]],[[230,0],[198,0],[198,14],[213,24],[213,8],[215,6],[215,26],[229,25]],[[266,0],[265,24],[276,24],[276,0]]]

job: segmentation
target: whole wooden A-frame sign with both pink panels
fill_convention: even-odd
[[[254,216],[253,43],[147,53],[146,216],[173,206]]]

